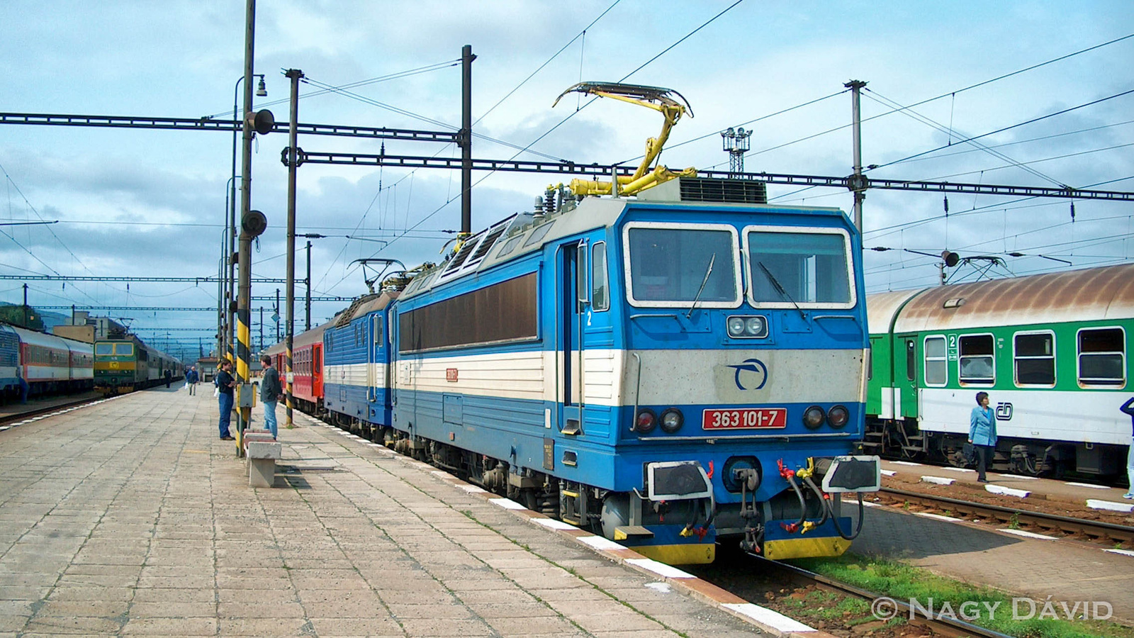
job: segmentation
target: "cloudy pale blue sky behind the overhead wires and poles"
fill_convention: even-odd
[[[310,79],[301,87],[303,123],[452,131],[460,121],[457,60],[471,44],[476,158],[509,159],[531,145],[517,159],[634,160],[657,134],[657,114],[574,95],[551,108],[581,79],[624,79],[675,89],[692,104],[694,117],[678,124],[662,156],[671,167],[727,169],[718,133],[745,126],[753,131],[746,170],[841,176],[852,166],[843,85],[862,79],[863,161],[880,167],[873,177],[1134,191],[1134,11],[1126,0],[659,7],[261,0],[255,70],[265,74],[269,95],[256,108],[286,120],[282,70],[297,68]],[[231,118],[244,24],[236,0],[8,0],[0,3],[0,111]],[[327,91],[347,85],[349,92]],[[897,104],[919,106],[894,112]],[[981,148],[964,142],[974,136]],[[0,275],[214,276],[231,142],[219,132],[0,125],[0,219],[59,221],[0,226]],[[253,208],[269,219],[253,254],[256,276],[284,276],[286,145],[285,135],[270,134],[254,146]],[[376,141],[316,136],[299,145],[381,149]],[[388,141],[386,152],[459,157],[452,145],[428,142]],[[530,208],[559,177],[480,173],[473,181],[475,230]],[[447,232],[459,228],[459,173],[443,169],[302,167],[298,233],[329,235],[313,242],[314,294],[365,292],[352,265],[359,258],[437,261]],[[852,203],[831,188],[771,186],[769,194],[845,210]],[[1074,268],[1134,258],[1131,202],[1076,201],[1074,223],[1067,200],[954,194],[948,208],[946,218],[941,194],[871,191],[865,245],[1027,255],[1007,258],[1006,269],[993,269],[998,276],[1067,268],[1041,254]],[[296,263],[302,278],[302,252]],[[868,251],[865,263],[869,292],[933,285],[938,274],[933,258],[899,250]],[[976,274],[962,266],[951,276]],[[0,280],[0,301],[19,303],[22,285]],[[274,296],[276,288],[260,284],[253,294]],[[108,313],[132,318],[159,345],[180,339],[196,354],[198,337],[206,350],[212,343],[215,313],[139,309],[215,307],[217,286],[31,282],[28,302],[129,307]],[[254,338],[264,307],[273,341],[273,302],[252,305]],[[314,304],[313,322],[344,305]],[[296,316],[302,329],[302,305]]]

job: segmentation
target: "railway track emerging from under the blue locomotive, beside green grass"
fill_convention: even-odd
[[[866,589],[861,589],[847,585],[845,582],[839,582],[832,580],[824,576],[807,571],[795,565],[789,565],[787,563],[781,563],[777,561],[769,561],[762,556],[756,556],[750,554],[752,560],[760,561],[759,569],[764,572],[773,572],[779,574],[785,580],[792,582],[798,587],[815,587],[818,589],[823,589],[826,591],[832,591],[840,594],[843,596],[850,596],[854,598],[860,598],[871,603],[871,611],[875,613],[880,619],[888,618],[902,618],[906,620],[908,626],[921,627],[931,631],[933,637],[941,638],[1012,638],[1007,633],[1000,633],[999,631],[993,631],[991,629],[985,629],[976,624],[965,622],[963,620],[954,620],[951,618],[926,618],[923,613],[913,613],[909,605],[903,603],[902,601],[896,601],[894,598],[882,597],[879,594],[869,591]],[[885,601],[881,605],[879,602]]]

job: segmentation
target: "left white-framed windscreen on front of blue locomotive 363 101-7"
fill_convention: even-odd
[[[741,305],[736,228],[720,224],[629,223],[623,244],[631,305]]]

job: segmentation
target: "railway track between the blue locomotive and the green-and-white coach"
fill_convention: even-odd
[[[1004,507],[1000,505],[988,505],[985,503],[974,503],[960,501],[945,496],[932,496],[917,492],[906,492],[883,487],[878,492],[880,497],[889,498],[891,502],[916,505],[926,510],[949,512],[948,515],[955,518],[973,518],[983,521],[997,521],[1005,524],[1018,526],[1038,534],[1056,532],[1065,536],[1075,536],[1101,544],[1124,543],[1127,546],[1134,545],[1134,527],[1110,523],[1105,521],[1092,521],[1088,519],[1075,519],[1058,514],[1047,514],[1033,512],[1017,507]]]

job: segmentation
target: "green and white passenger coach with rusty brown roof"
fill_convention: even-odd
[[[1018,473],[1119,475],[1134,265],[873,294],[868,453],[965,464],[978,392]]]

